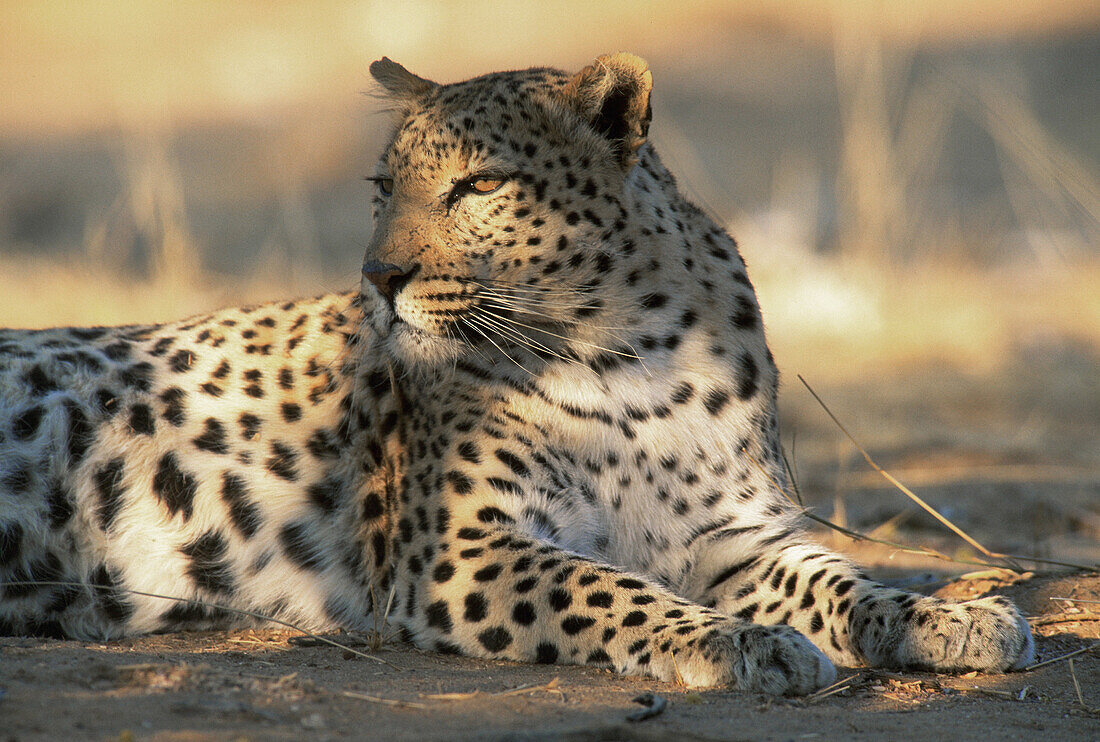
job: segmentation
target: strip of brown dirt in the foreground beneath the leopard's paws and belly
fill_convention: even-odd
[[[843,669],[837,693],[791,699],[444,657],[388,642],[377,651],[358,645],[374,657],[364,658],[295,645],[285,631],[110,644],[3,639],[0,726],[6,740],[1097,739],[1100,575],[987,573],[938,594],[991,591],[1035,617],[1040,661],[1086,651],[1072,666],[1056,660],[1003,676]],[[668,706],[630,721],[641,710],[632,699],[644,694]]]

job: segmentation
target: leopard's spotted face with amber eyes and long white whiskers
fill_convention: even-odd
[[[648,117],[648,71],[636,73],[616,101]],[[601,130],[558,70],[393,87],[402,120],[372,178],[362,291],[395,359],[507,355],[527,368],[613,345],[606,331],[626,319],[614,308],[628,303],[616,258],[634,252],[623,132]]]

